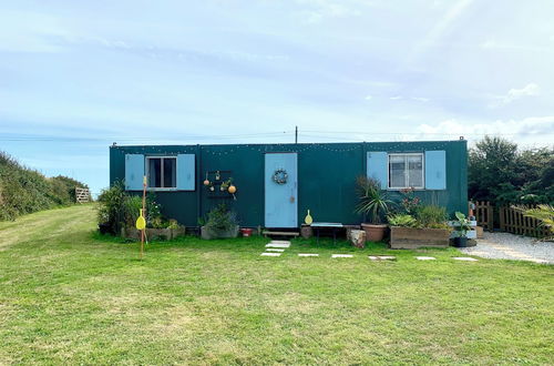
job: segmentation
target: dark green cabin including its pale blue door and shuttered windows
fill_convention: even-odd
[[[307,210],[317,222],[358,224],[355,181],[361,174],[377,177],[392,197],[413,186],[424,203],[445,206],[451,215],[466,213],[466,156],[464,140],[113,145],[110,182],[124,181],[127,191],[140,192],[147,176],[163,214],[186,226],[197,226],[219,203],[237,213],[242,226],[298,227]]]

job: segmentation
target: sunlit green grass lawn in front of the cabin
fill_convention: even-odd
[[[554,268],[454,248],[265,238],[147,246],[93,206],[0,223],[0,364],[548,364]],[[300,258],[297,253],[319,253]],[[331,260],[332,253],[355,254]],[[393,254],[375,263],[369,254]],[[420,262],[418,253],[434,262]]]

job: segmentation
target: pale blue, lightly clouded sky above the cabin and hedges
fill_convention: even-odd
[[[554,141],[552,0],[0,0],[0,150],[93,193],[109,145]]]

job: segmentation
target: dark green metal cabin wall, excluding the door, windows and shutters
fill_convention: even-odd
[[[357,204],[355,180],[366,174],[367,152],[447,152],[447,190],[420,191],[425,203],[447,206],[449,213],[468,211],[466,142],[372,142],[325,144],[238,144],[110,148],[110,182],[125,176],[125,154],[196,155],[196,190],[156,192],[165,216],[187,226],[196,226],[198,216],[225,202],[233,207],[244,226],[264,225],[264,153],[298,153],[298,217],[304,221],[309,209],[315,221],[360,223],[353,213]],[[202,185],[206,171],[232,171],[237,200],[214,199]],[[398,192],[390,192],[399,197]]]

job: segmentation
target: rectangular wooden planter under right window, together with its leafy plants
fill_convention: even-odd
[[[450,227],[444,207],[419,206],[413,214],[390,215],[390,247],[413,250],[419,247],[448,247]]]

